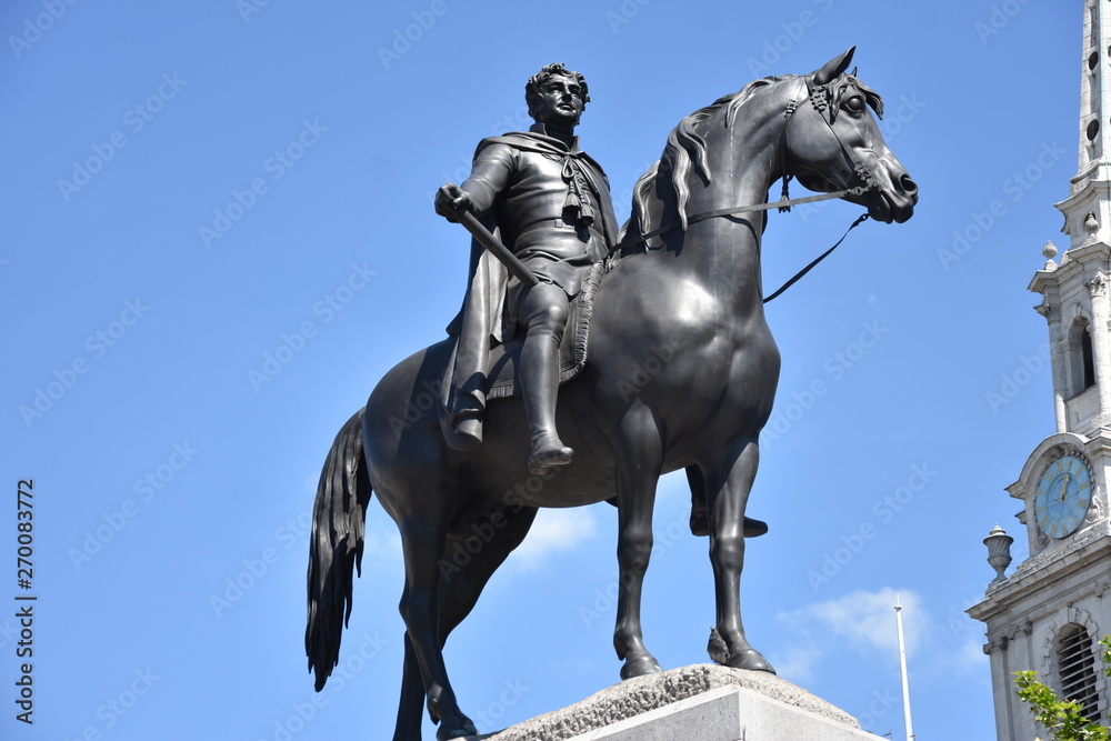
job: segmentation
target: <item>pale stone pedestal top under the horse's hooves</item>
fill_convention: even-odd
[[[764,672],[697,664],[638,677],[478,741],[879,741],[854,718]]]

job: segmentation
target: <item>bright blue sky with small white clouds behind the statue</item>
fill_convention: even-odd
[[[340,424],[458,309],[467,238],[434,189],[479,139],[527,127],[524,81],[562,61],[588,78],[579,133],[623,220],[682,117],[857,44],[921,201],[769,307],[783,372],[745,625],[782,677],[900,738],[898,591],[918,738],[993,737],[963,610],[993,575],[988,531],[1021,534],[1003,487],[1053,432],[1027,284],[1044,242],[1068,243],[1052,203],[1077,167],[1082,3],[552,6],[3,3],[0,735],[389,738],[397,530],[372,505],[343,681],[314,695],[308,521]],[[767,283],[859,211],[772,214]],[[33,727],[14,720],[7,617],[29,478]],[[688,505],[667,478],[644,598],[667,668],[707,660],[713,620]],[[447,651],[480,730],[618,681],[614,543],[605,504],[546,512],[491,581]]]

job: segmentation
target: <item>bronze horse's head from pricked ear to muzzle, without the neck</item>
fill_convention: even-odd
[[[784,169],[809,190],[857,189],[845,200],[867,207],[877,221],[902,223],[914,213],[918,186],[875,122],[883,118],[883,100],[845,72],[854,51],[801,78],[805,98],[788,109]]]

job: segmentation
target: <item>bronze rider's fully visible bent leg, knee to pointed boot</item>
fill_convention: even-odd
[[[567,293],[552,283],[537,283],[521,297],[520,317],[528,334],[517,369],[524,413],[532,430],[529,471],[543,473],[571,462],[574,454],[556,432],[559,389],[559,342],[567,326]]]

